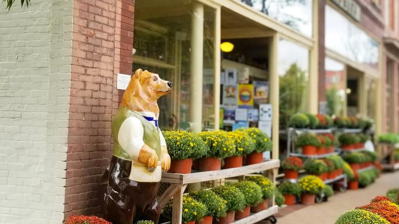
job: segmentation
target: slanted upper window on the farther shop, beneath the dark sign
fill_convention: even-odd
[[[330,6],[325,8],[325,46],[350,60],[378,69],[378,42]]]

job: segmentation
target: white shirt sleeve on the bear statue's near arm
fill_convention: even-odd
[[[118,142],[132,160],[139,157],[140,149],[144,145],[143,135],[144,129],[139,119],[129,117],[123,121],[118,133]]]

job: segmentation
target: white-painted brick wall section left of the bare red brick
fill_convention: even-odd
[[[0,223],[61,223],[73,0],[0,2]]]

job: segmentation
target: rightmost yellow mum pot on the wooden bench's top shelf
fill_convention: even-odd
[[[255,150],[252,153],[247,154],[246,164],[251,165],[263,162],[263,152],[272,150],[272,139],[267,133],[259,130],[256,127],[239,128],[239,130],[247,132],[256,144]]]

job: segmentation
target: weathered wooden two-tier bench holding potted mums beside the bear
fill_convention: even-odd
[[[246,174],[257,173],[277,169],[280,167],[280,160],[269,160],[259,164],[246,165],[242,167],[195,172],[195,173],[163,173],[161,182],[171,184],[168,189],[160,197],[160,204],[166,204],[169,198],[173,196],[173,210],[172,210],[172,224],[182,223],[182,199],[183,192],[187,184],[198,183],[204,181],[219,180],[221,178],[229,178],[236,176],[243,176]],[[273,173],[271,172],[273,178]],[[250,216],[239,219],[233,223],[254,223],[262,219],[268,218],[278,212],[278,206],[269,204],[269,208],[257,213],[251,213]]]

